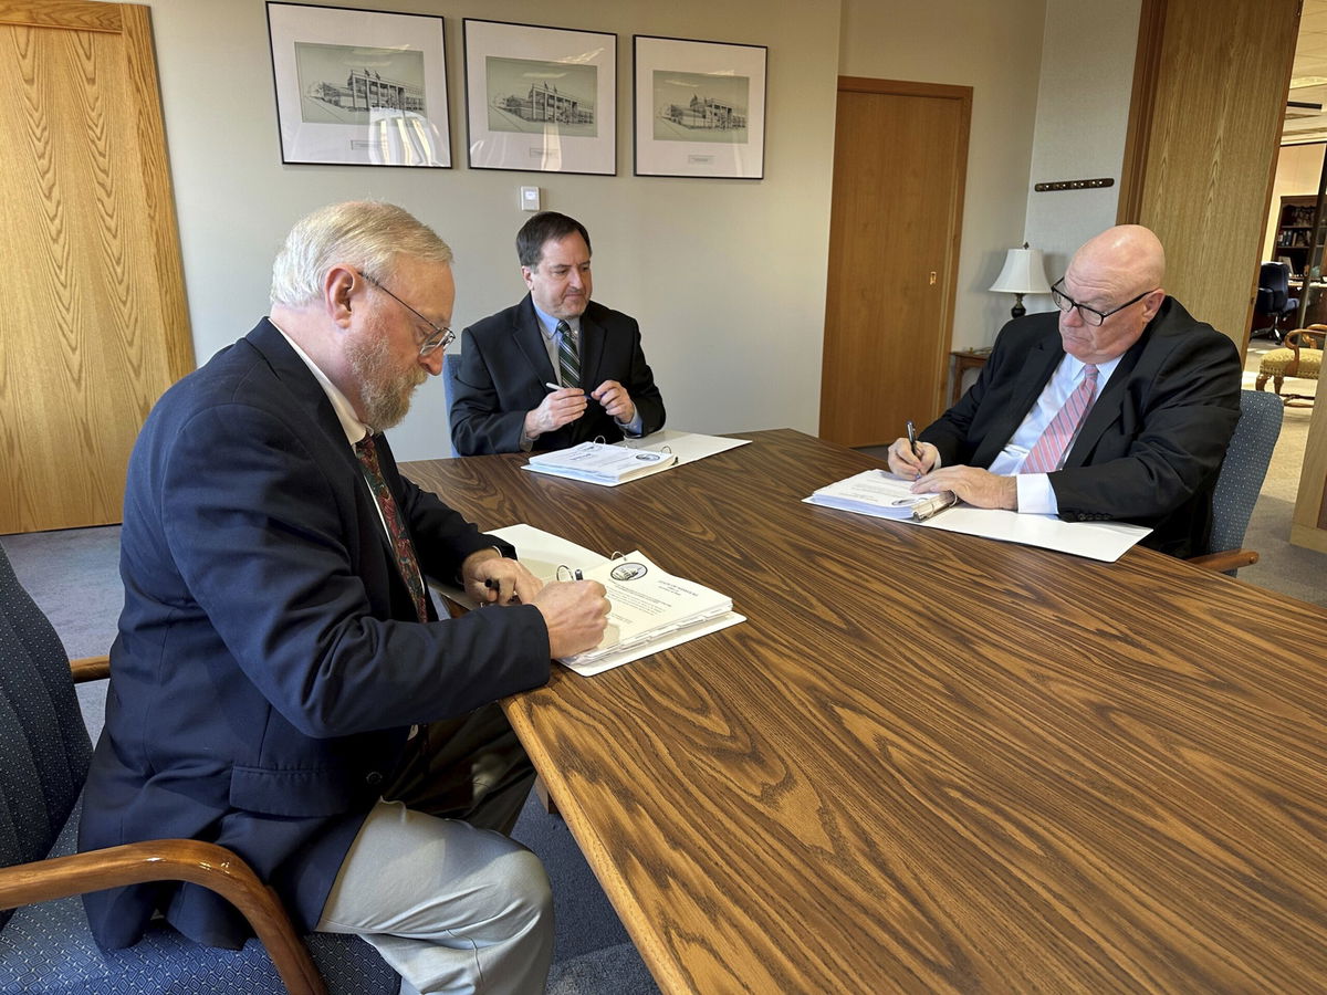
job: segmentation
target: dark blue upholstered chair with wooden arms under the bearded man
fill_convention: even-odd
[[[314,933],[305,949],[276,894],[231,850],[151,840],[74,853],[92,758],[74,681],[109,673],[105,657],[70,663],[0,549],[0,992],[395,991],[397,974],[358,937]],[[215,950],[158,922],[139,943],[102,951],[78,896],[165,880],[226,896],[257,937]]]

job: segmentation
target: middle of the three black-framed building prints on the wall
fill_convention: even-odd
[[[472,170],[617,175],[617,34],[466,17]]]

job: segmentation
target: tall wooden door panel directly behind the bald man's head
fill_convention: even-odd
[[[1299,0],[1144,0],[1120,222],[1152,228],[1165,287],[1242,345],[1281,151]]]

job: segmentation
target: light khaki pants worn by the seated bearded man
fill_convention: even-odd
[[[316,929],[364,937],[401,974],[403,995],[543,992],[553,953],[548,876],[506,836],[533,779],[496,704],[422,727]]]

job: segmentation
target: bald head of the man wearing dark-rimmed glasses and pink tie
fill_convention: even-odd
[[[1070,261],[1060,287],[1076,304],[1060,312],[1064,352],[1085,364],[1123,356],[1165,302],[1165,249],[1141,224],[1120,224],[1089,239]]]

